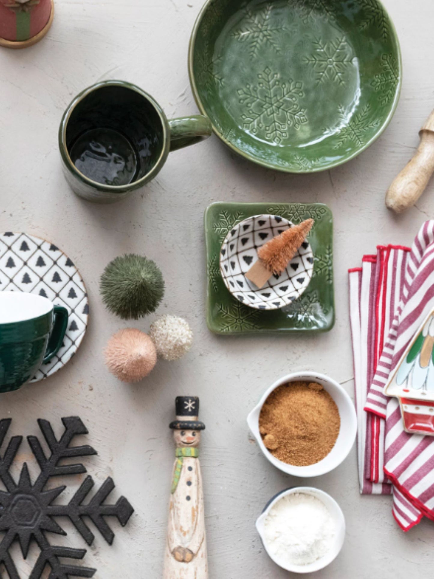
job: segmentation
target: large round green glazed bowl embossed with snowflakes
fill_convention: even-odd
[[[198,107],[231,149],[264,167],[313,173],[384,131],[402,63],[378,0],[208,0],[189,74]]]

